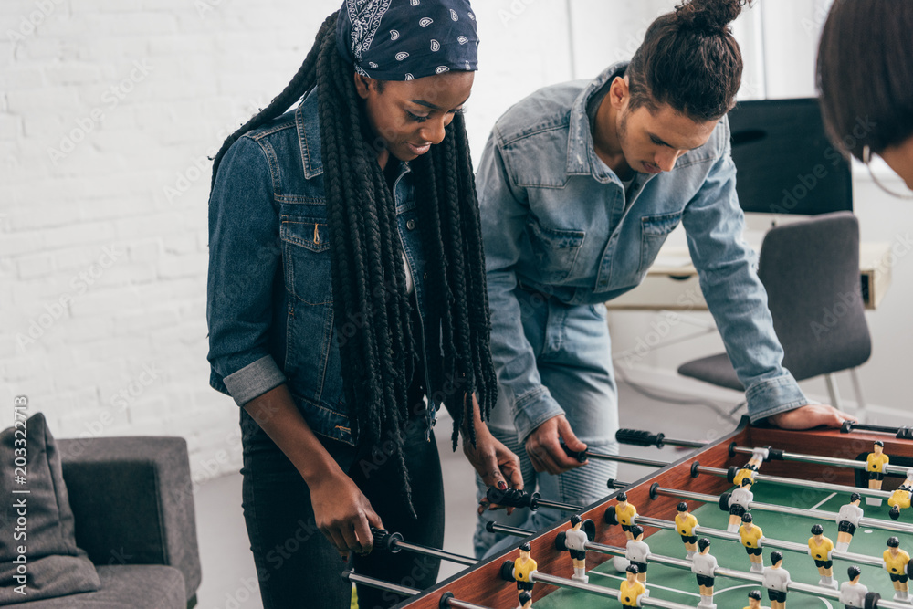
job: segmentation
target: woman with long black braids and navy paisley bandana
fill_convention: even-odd
[[[461,116],[475,19],[467,0],[347,0],[215,157],[210,383],[241,406],[265,607],[348,607],[349,551],[357,572],[435,583],[436,561],[369,552],[371,527],[441,546],[440,404],[479,476],[522,487],[482,422],[497,390]]]

